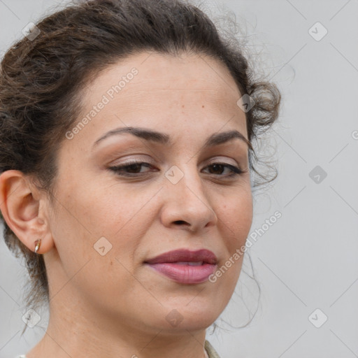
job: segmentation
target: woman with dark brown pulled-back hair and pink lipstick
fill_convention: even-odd
[[[4,238],[50,310],[27,358],[218,357],[280,103],[242,52],[185,1],[104,0],[3,57]]]

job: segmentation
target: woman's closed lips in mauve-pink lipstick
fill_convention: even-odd
[[[191,266],[183,262],[201,262]],[[178,283],[197,284],[208,280],[217,267],[217,257],[213,252],[206,249],[187,250],[180,249],[148,259],[145,264],[155,271]]]

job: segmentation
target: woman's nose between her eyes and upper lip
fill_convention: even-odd
[[[184,171],[176,167],[176,170],[167,174],[162,190],[165,198],[161,211],[162,224],[189,231],[200,231],[215,225],[217,215],[210,200],[213,198],[210,198],[209,189],[203,187],[197,169]]]

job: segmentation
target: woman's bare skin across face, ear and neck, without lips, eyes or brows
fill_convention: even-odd
[[[242,256],[215,283],[195,285],[143,263],[169,250],[206,248],[220,267],[245,244],[252,224],[248,145],[235,138],[203,148],[221,131],[248,138],[234,79],[203,55],[142,52],[87,85],[78,121],[133,67],[133,80],[62,141],[53,205],[22,172],[0,176],[6,222],[30,250],[42,238],[38,252],[48,271],[50,322],[28,358],[206,357],[206,328],[238,281]],[[164,132],[173,144],[120,134],[94,145],[127,126]],[[136,178],[108,169],[131,159],[151,166],[141,166]],[[215,162],[244,172],[229,178],[230,169],[209,166]],[[176,184],[165,176],[174,165],[184,174]],[[94,244],[103,236],[112,248],[102,256]],[[172,310],[182,318],[176,327],[166,320]]]

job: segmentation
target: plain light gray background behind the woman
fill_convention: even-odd
[[[0,0],[1,53],[28,22],[59,3]],[[222,358],[358,357],[358,1],[220,3],[234,11],[282,92],[280,122],[270,134],[279,176],[255,196],[251,232],[276,210],[282,217],[248,251],[261,287],[259,303],[245,257],[248,274],[241,274],[224,322],[218,321],[224,329],[213,335],[208,329],[207,338]],[[320,41],[324,28],[313,27],[316,22],[328,31]],[[327,173],[319,182],[310,177],[316,166]],[[43,313],[20,339],[27,273],[2,241],[0,255],[0,358],[5,358],[35,345],[48,318]],[[245,325],[256,309],[247,327],[227,324]]]

